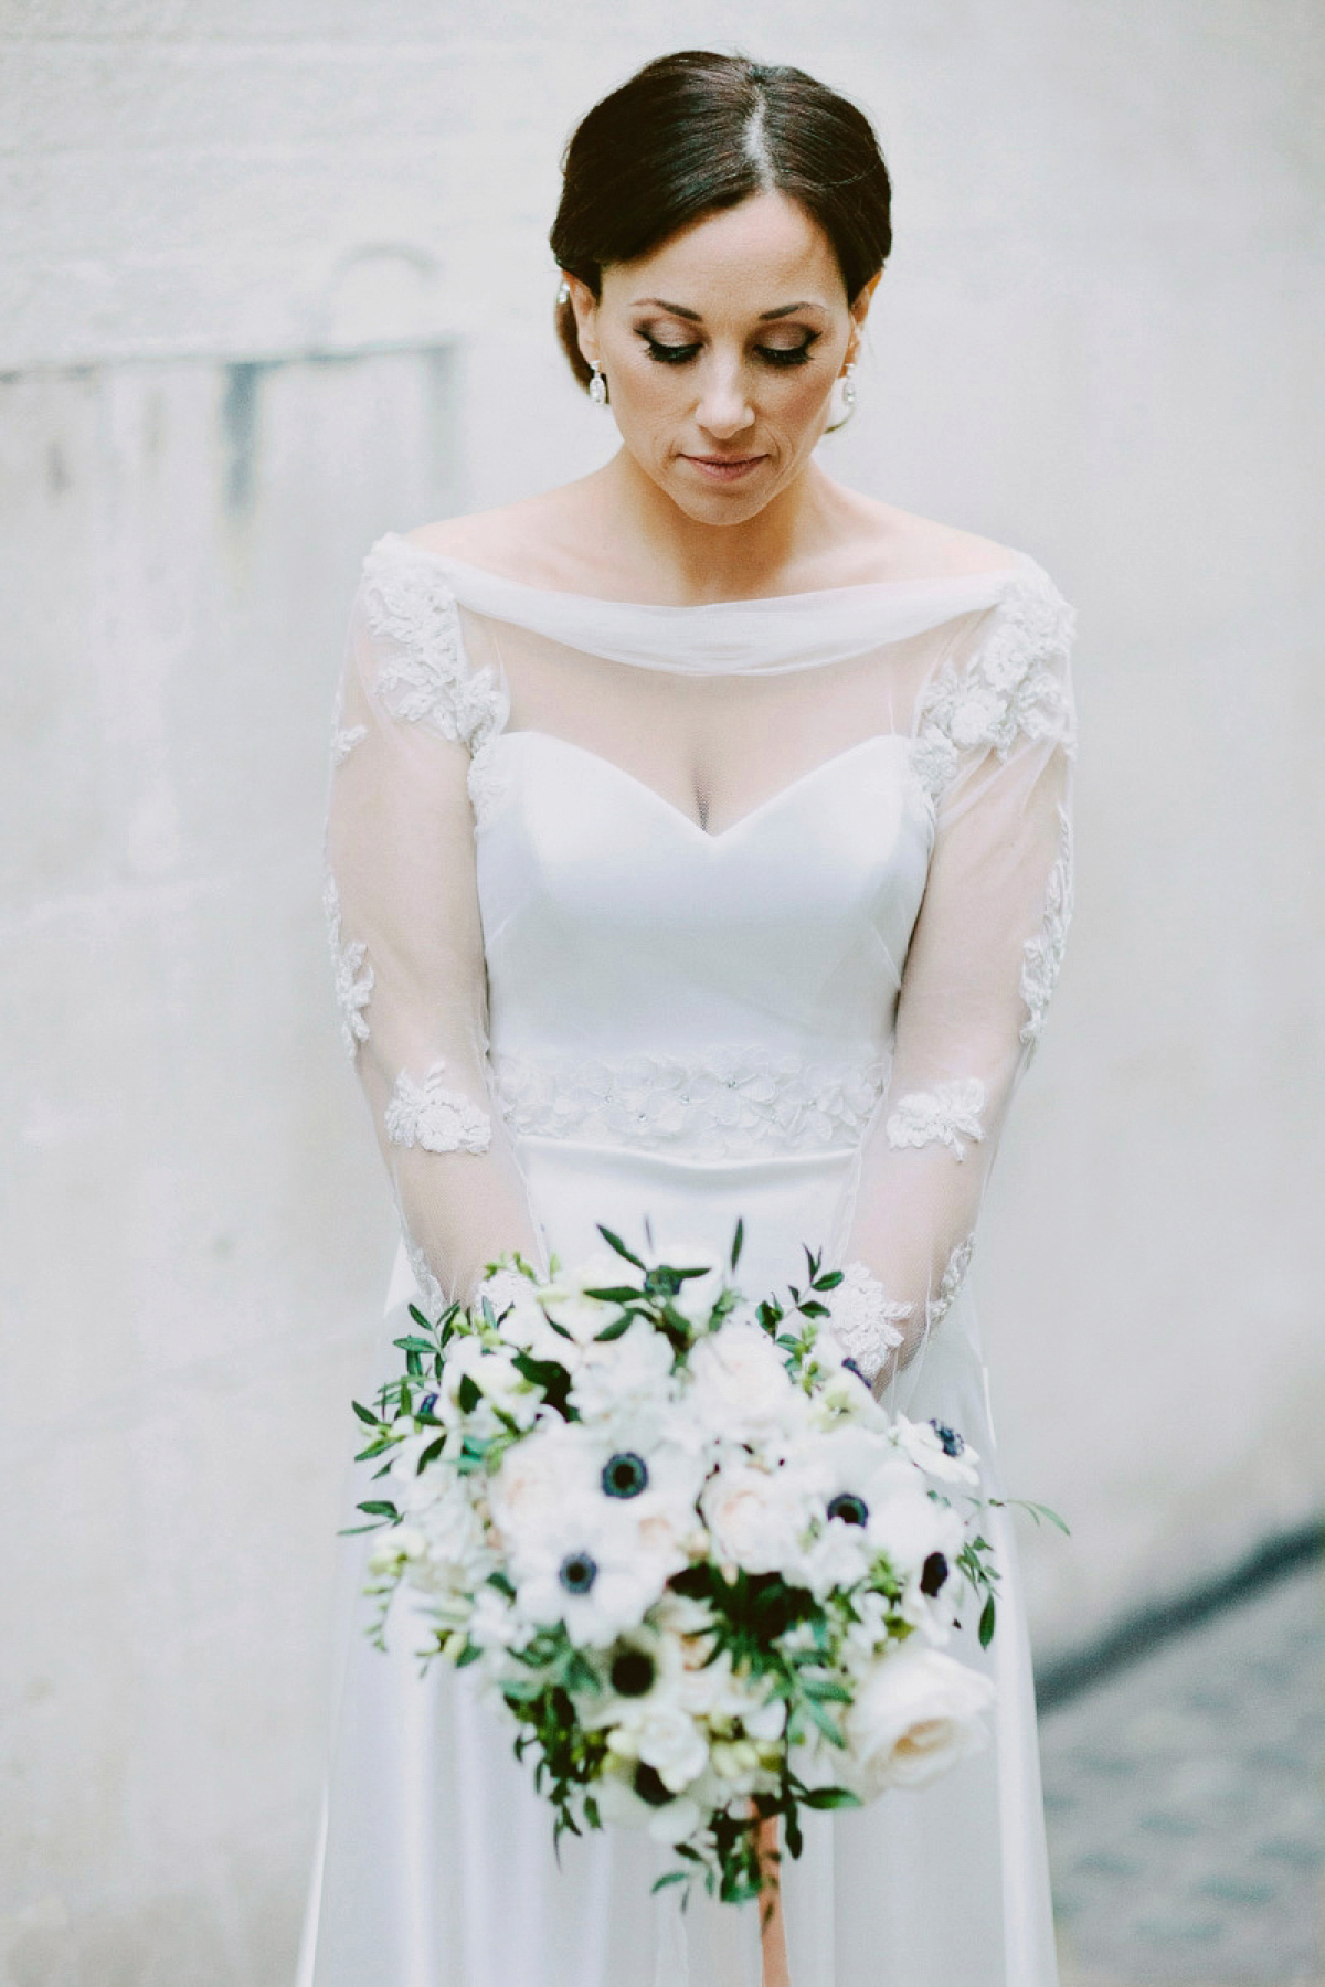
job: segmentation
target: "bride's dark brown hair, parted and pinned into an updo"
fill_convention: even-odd
[[[660,56],[578,125],[548,240],[558,266],[600,296],[608,262],[632,262],[753,193],[785,193],[812,215],[850,302],[888,260],[892,185],[864,111],[805,70],[709,50]],[[556,334],[588,385],[570,300],[556,306]]]

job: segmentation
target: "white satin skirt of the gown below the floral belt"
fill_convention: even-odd
[[[801,1244],[822,1246],[846,1154],[685,1164],[528,1139],[520,1162],[544,1238],[562,1262],[626,1242],[725,1250],[745,1220],[741,1288],[803,1282]],[[397,1256],[366,1387],[397,1371],[413,1278]],[[364,1395],[362,1395],[364,1397]],[[934,1335],[906,1411],[961,1429],[997,1490],[973,1303],[963,1292]],[[346,1484],[344,1524],[368,1494]],[[783,1858],[793,1987],[1057,1987],[1035,1703],[1017,1556],[989,1514],[1001,1586],[993,1643],[973,1629],[952,1653],[997,1687],[985,1751],[932,1786],[868,1808],[810,1814],[805,1852]],[[562,1836],[513,1757],[513,1727],[473,1671],[433,1665],[407,1607],[389,1653],[366,1635],[371,1534],[342,1542],[336,1691],[320,1840],[296,1987],[763,1987],[753,1906],[677,1888],[650,1894],[671,1854],[628,1830]]]

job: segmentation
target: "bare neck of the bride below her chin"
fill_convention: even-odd
[[[685,606],[795,592],[787,584],[801,560],[830,536],[834,483],[807,463],[755,517],[705,525],[658,489],[628,449],[600,471],[610,536],[638,566],[646,598]]]

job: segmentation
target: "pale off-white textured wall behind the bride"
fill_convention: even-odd
[[[6,1987],[290,1977],[391,1254],[318,904],[354,568],[604,457],[556,157],[731,44],[896,177],[826,461],[1081,614],[1081,908],[975,1272],[1075,1524],[1041,1647],[1325,1496],[1319,12],[8,0]]]

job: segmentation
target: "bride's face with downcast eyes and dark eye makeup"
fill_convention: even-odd
[[[818,223],[759,193],[610,262],[598,302],[570,294],[640,469],[697,523],[735,525],[809,461],[874,282],[850,306]]]

